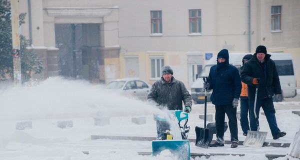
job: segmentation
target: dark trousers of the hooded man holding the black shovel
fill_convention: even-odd
[[[225,113],[227,114],[228,117],[230,141],[238,142],[236,107],[233,108],[232,104],[215,105],[215,126],[216,126],[216,139],[217,139],[216,141],[220,143],[224,143]]]

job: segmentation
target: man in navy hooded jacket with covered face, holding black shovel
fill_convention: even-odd
[[[231,147],[237,147],[236,106],[241,91],[241,80],[238,69],[229,64],[227,49],[218,52],[217,64],[210,68],[207,83],[204,83],[203,86],[207,89],[213,89],[210,100],[215,105],[216,141],[209,146],[224,146],[226,113],[231,134]]]

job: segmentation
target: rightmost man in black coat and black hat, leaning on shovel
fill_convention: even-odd
[[[256,100],[256,116],[259,117],[259,109],[262,107],[269,124],[273,139],[278,139],[286,133],[277,127],[275,108],[272,96],[281,94],[281,86],[276,65],[270,54],[267,54],[266,47],[256,47],[253,57],[244,65],[241,72],[241,80],[248,85],[249,98],[249,119],[250,129],[257,130],[254,116],[255,85],[258,85]],[[258,81],[259,80],[259,81]]]

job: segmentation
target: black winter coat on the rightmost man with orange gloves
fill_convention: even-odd
[[[264,71],[257,61],[256,53],[254,53],[253,57],[244,65],[241,72],[241,80],[248,85],[249,99],[255,98],[255,85],[252,84],[253,78],[260,78],[257,92],[258,99],[270,98],[274,93],[281,94],[276,65],[274,61],[270,59],[270,56],[270,54],[266,54],[264,57]]]

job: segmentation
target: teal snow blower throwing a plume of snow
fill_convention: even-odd
[[[183,126],[180,121],[185,119]],[[152,156],[160,154],[163,150],[169,150],[177,159],[190,159],[190,145],[187,140],[189,126],[186,125],[188,121],[188,113],[182,110],[169,110],[165,115],[157,115],[156,120],[168,121],[170,123],[170,130],[167,130],[165,140],[152,141]],[[178,124],[176,124],[178,122]]]

